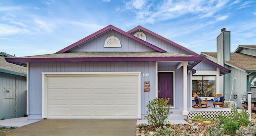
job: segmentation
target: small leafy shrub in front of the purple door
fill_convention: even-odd
[[[162,127],[166,124],[168,116],[172,114],[172,111],[170,111],[170,107],[168,106],[169,100],[170,98],[156,98],[148,102],[148,110],[145,118],[148,120],[149,124],[156,127]]]

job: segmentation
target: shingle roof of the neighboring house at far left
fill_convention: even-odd
[[[14,71],[14,72],[26,74],[27,68],[20,65],[13,64],[13,63],[6,62],[4,57],[0,56],[0,69],[5,69],[8,71]]]

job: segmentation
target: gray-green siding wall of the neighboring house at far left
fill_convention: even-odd
[[[23,117],[26,115],[26,77],[0,72],[0,119],[14,118],[16,88],[16,114]],[[6,89],[10,89],[10,92]]]

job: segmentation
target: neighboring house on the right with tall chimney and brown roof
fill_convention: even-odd
[[[217,52],[202,52],[201,55],[232,71],[220,80],[220,92],[225,101],[235,101],[238,108],[243,108],[242,95],[252,90],[252,98],[256,98],[256,45],[239,45],[230,53],[230,31],[222,30],[217,37]]]

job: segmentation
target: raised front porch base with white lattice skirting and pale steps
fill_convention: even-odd
[[[221,113],[224,115],[230,115],[232,114],[231,108],[188,108],[188,116],[182,115],[182,108],[171,108],[172,114],[170,114],[167,121],[171,122],[171,124],[189,124],[184,120],[184,118],[193,119],[196,115],[202,115],[202,117],[207,117],[209,119],[214,119],[214,116]],[[238,111],[241,111],[242,109],[238,109]],[[140,123],[146,123],[148,124],[147,120],[144,119],[144,116],[137,120],[137,124]]]

